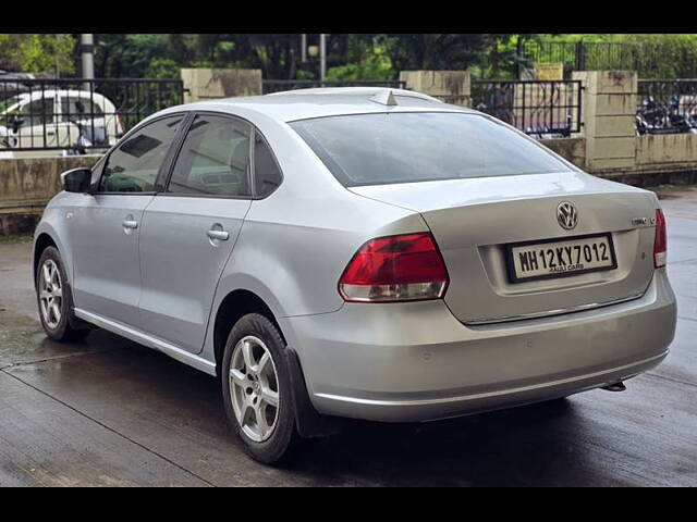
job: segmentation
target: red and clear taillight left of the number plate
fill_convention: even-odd
[[[440,299],[447,287],[445,263],[430,234],[371,239],[339,279],[341,296],[358,302]]]

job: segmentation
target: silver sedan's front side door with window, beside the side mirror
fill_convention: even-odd
[[[143,212],[183,115],[157,120],[107,158],[99,188],[73,213],[75,307],[139,327]]]

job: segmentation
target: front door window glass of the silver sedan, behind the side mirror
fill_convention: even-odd
[[[151,192],[182,115],[163,117],[132,134],[107,159],[101,192]]]

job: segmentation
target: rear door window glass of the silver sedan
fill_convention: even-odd
[[[197,115],[179,153],[167,191],[188,196],[249,196],[249,125]]]

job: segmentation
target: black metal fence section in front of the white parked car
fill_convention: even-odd
[[[106,149],[183,99],[178,79],[0,78],[0,151]]]

